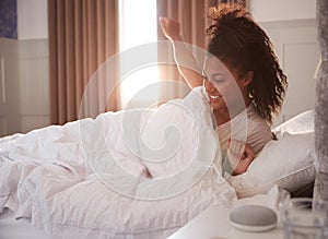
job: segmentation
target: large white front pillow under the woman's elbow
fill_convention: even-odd
[[[235,188],[238,198],[246,198],[266,193],[274,184],[295,191],[313,182],[315,175],[314,132],[284,132],[279,140],[272,140],[263,147],[246,172],[227,181]]]

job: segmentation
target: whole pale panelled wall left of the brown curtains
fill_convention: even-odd
[[[47,0],[17,0],[17,38],[0,37],[0,135],[49,124]]]

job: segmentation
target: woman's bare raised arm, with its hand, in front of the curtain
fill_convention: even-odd
[[[174,58],[178,67],[179,73],[183,75],[183,77],[191,88],[201,86],[201,69],[198,65],[191,51],[183,43],[179,22],[168,17],[160,17],[160,25],[164,35],[173,44]]]

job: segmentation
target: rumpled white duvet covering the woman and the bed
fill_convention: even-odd
[[[166,238],[210,205],[232,206],[197,94],[0,139],[0,212],[54,238]]]

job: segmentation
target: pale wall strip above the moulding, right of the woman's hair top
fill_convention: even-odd
[[[248,0],[247,5],[258,22],[315,19],[316,0]]]

